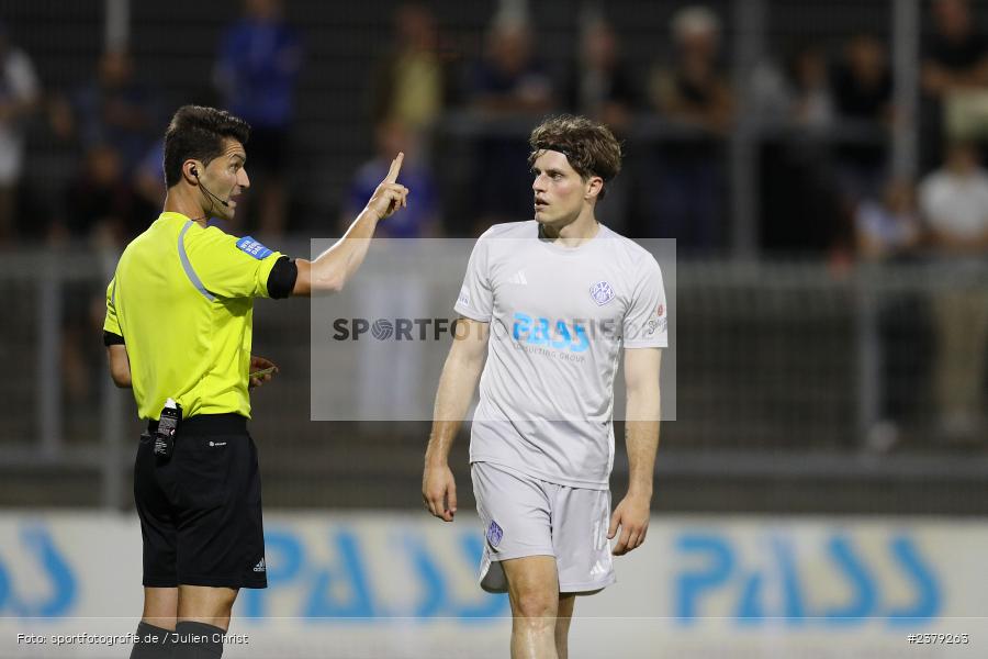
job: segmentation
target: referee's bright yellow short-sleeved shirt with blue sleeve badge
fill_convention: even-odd
[[[106,288],[105,332],[122,336],[141,418],[169,398],[182,416],[250,416],[254,298],[282,255],[251,239],[161,215],[124,249]]]

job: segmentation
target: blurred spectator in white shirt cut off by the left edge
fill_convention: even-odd
[[[38,82],[27,55],[0,23],[0,244],[14,238],[16,189],[24,165],[24,119],[37,105]]]

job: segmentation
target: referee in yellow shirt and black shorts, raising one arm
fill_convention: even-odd
[[[132,658],[220,657],[238,589],[267,587],[248,388],[277,368],[250,354],[254,299],[340,290],[378,222],[406,204],[398,154],[344,237],[315,260],[226,234],[209,221],[232,220],[250,185],[249,131],[213,108],[176,112],[165,133],[165,210],[127,245],[106,288],[110,373],[133,389],[148,422],[134,465],[144,540],[137,635],[158,643],[135,644]]]

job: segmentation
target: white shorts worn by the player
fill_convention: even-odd
[[[615,582],[608,490],[560,485],[491,462],[473,462],[470,471],[484,528],[482,589],[507,592],[499,561],[526,556],[555,557],[561,593]]]

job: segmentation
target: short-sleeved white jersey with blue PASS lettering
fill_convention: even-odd
[[[669,345],[659,264],[604,225],[570,248],[535,221],[476,242],[456,310],[490,323],[471,462],[607,489],[620,350]]]

